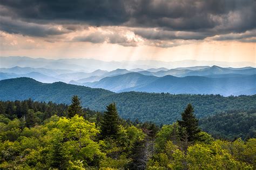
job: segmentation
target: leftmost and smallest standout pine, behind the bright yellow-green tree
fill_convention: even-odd
[[[72,97],[72,104],[69,106],[69,109],[68,109],[68,116],[69,118],[75,116],[76,114],[81,116],[82,113],[83,113],[83,110],[80,103],[80,98],[77,95],[74,95]]]

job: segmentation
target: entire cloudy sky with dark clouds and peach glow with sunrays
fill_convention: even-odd
[[[0,0],[0,56],[256,63],[255,13],[255,0]]]

